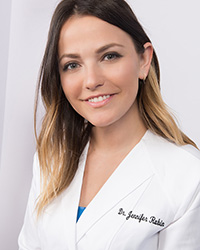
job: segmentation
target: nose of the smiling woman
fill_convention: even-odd
[[[90,65],[85,69],[84,86],[88,90],[96,90],[104,85],[104,78],[98,65]]]

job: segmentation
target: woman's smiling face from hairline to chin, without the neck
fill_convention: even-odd
[[[63,91],[82,117],[106,127],[138,111],[138,78],[148,65],[127,33],[93,16],[73,16],[58,49]]]

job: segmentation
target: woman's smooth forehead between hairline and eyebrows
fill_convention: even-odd
[[[59,39],[59,53],[63,49],[79,50],[84,45],[98,48],[106,43],[133,46],[129,34],[94,16],[72,16],[63,25]]]

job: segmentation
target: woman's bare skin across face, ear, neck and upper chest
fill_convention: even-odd
[[[81,206],[92,201],[146,132],[136,100],[138,79],[146,78],[153,53],[150,43],[144,48],[138,54],[126,32],[93,16],[73,16],[61,29],[63,91],[72,107],[94,125]],[[107,99],[91,102],[99,96]]]

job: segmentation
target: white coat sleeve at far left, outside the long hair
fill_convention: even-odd
[[[37,153],[34,156],[33,179],[18,245],[19,250],[41,250],[38,234],[38,223],[35,212],[36,200],[40,192],[40,169]]]

